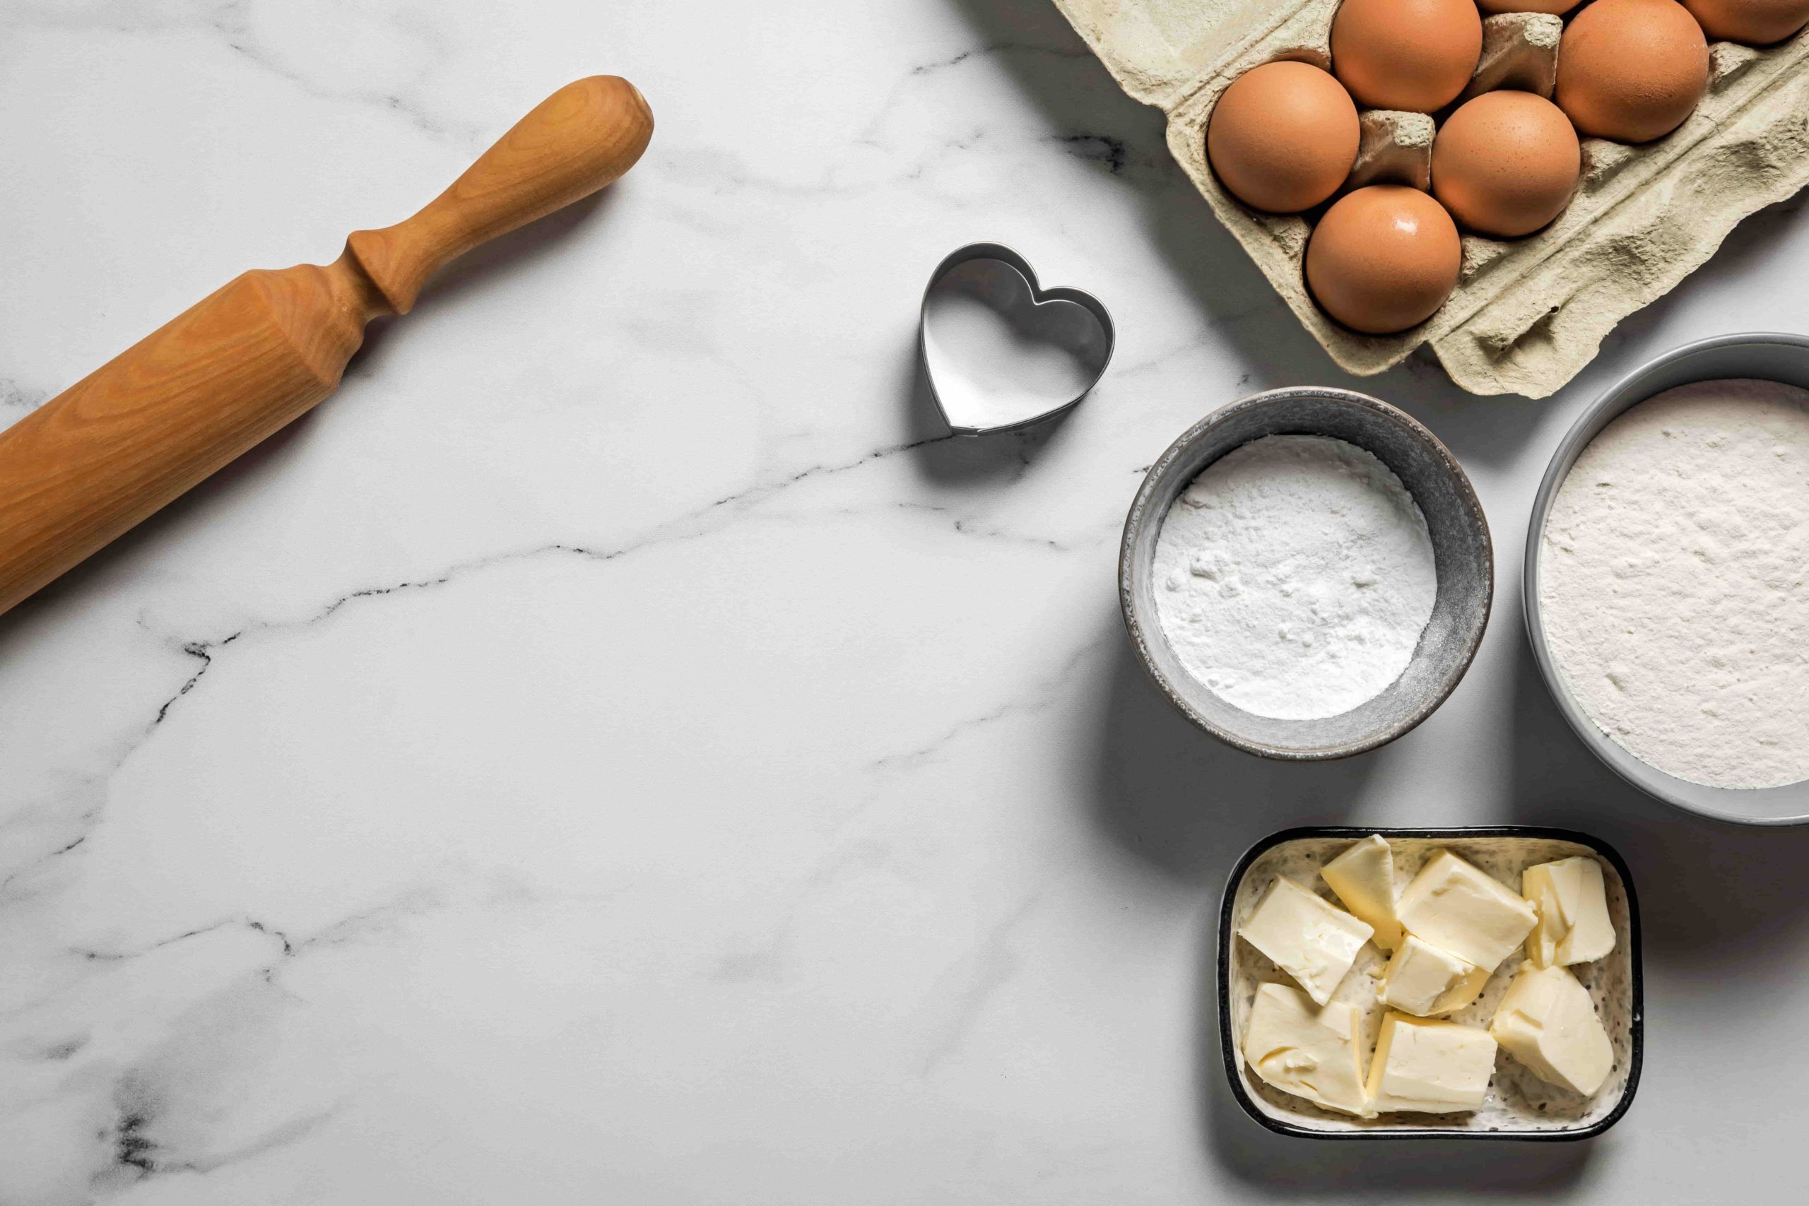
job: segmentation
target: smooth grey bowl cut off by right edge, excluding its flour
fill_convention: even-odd
[[[1521,602],[1527,613],[1527,636],[1532,640],[1532,656],[1539,664],[1539,674],[1558,702],[1558,711],[1576,730],[1596,758],[1608,763],[1623,779],[1659,799],[1677,805],[1686,812],[1695,812],[1719,821],[1738,824],[1809,824],[1809,781],[1785,787],[1767,787],[1760,790],[1737,790],[1726,787],[1702,787],[1664,774],[1650,767],[1626,747],[1615,743],[1583,707],[1570,696],[1552,662],[1552,651],[1545,644],[1545,624],[1539,620],[1539,548],[1545,533],[1545,515],[1552,508],[1558,486],[1563,485],[1577,456],[1588,447],[1603,427],[1615,416],[1664,392],[1673,385],[1690,382],[1713,382],[1719,378],[1744,376],[1769,382],[1784,382],[1809,389],[1809,338],[1802,334],[1720,334],[1697,344],[1664,353],[1657,360],[1634,369],[1583,412],[1570,434],[1558,445],[1552,463],[1539,483],[1539,494],[1532,503],[1532,521],[1527,524],[1527,559],[1521,568]]]

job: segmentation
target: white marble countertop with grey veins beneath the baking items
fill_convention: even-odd
[[[0,620],[0,1202],[1720,1201],[1798,1186],[1809,832],[1570,736],[1520,626],[1559,434],[1809,329],[1802,199],[1547,401],[1331,367],[1044,0],[0,4],[0,423],[398,221],[566,80],[658,118],[291,430]],[[941,255],[1098,293],[1060,425],[948,438]],[[1120,627],[1141,470],[1252,391],[1424,419],[1494,524],[1476,665],[1333,765],[1192,730]],[[1583,1145],[1312,1145],[1216,1049],[1232,861],[1301,823],[1626,855],[1646,1065]]]

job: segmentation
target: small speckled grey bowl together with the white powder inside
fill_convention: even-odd
[[[1295,557],[1261,555],[1270,524]],[[1189,429],[1143,477],[1118,561],[1125,627],[1161,693],[1228,745],[1283,759],[1360,754],[1431,716],[1492,593],[1489,523],[1456,457],[1344,389],[1268,391]]]

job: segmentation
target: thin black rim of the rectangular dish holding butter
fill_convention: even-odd
[[[1360,841],[1371,834],[1380,834],[1384,839],[1395,837],[1415,837],[1415,839],[1469,839],[1469,837],[1543,837],[1552,841],[1568,841],[1579,846],[1588,846],[1597,855],[1608,861],[1608,864],[1621,877],[1621,888],[1626,891],[1626,942],[1628,955],[1632,958],[1632,975],[1628,984],[1632,989],[1632,1018],[1628,1023],[1628,1067],[1626,1067],[1626,1085],[1621,1090],[1621,1099],[1615,1103],[1608,1114],[1590,1123],[1588,1126],[1577,1126],[1568,1130],[1436,1130],[1429,1126],[1402,1126],[1398,1130],[1313,1130],[1312,1126],[1299,1126],[1295,1123],[1284,1123],[1281,1119],[1270,1117],[1250,1099],[1250,1094],[1243,1087],[1243,1078],[1237,1074],[1237,1065],[1243,1054],[1237,1051],[1236,1036],[1232,1034],[1232,942],[1236,935],[1232,933],[1232,904],[1237,899],[1237,886],[1248,873],[1250,864],[1257,861],[1263,853],[1274,850],[1275,846],[1310,839],[1310,837],[1348,837],[1351,841]],[[1279,1135],[1290,1135],[1293,1139],[1482,1139],[1482,1141],[1514,1141],[1514,1143],[1576,1143],[1577,1139],[1592,1139],[1615,1123],[1619,1123],[1628,1108],[1634,1105],[1634,1094],[1639,1092],[1639,1072],[1644,1065],[1646,1056],[1646,991],[1644,991],[1644,969],[1641,956],[1641,937],[1639,937],[1639,895],[1634,891],[1634,873],[1626,866],[1626,859],[1621,852],[1590,834],[1579,834],[1577,830],[1567,830],[1549,824],[1454,824],[1454,826],[1353,826],[1353,824],[1302,824],[1295,828],[1277,830],[1268,837],[1257,839],[1243,857],[1232,866],[1230,877],[1225,881],[1225,895],[1219,900],[1219,951],[1217,951],[1217,1007],[1219,1007],[1219,1054],[1225,1060],[1225,1079],[1230,1081],[1232,1096],[1243,1112],[1254,1117],[1257,1123],[1274,1130]]]

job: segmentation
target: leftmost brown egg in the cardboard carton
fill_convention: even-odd
[[[1212,107],[1207,159],[1234,197],[1299,213],[1330,197],[1357,163],[1357,105],[1310,63],[1263,63]]]

